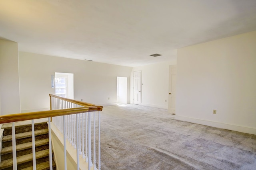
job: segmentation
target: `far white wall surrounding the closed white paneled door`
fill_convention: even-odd
[[[169,65],[173,64],[176,64],[176,60],[134,67],[130,76],[130,103],[133,103],[133,72],[141,70],[141,105],[167,109]]]

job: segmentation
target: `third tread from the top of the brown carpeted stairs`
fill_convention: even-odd
[[[43,158],[48,155],[49,155],[49,149],[41,150],[41,151],[36,152],[36,159]],[[18,156],[17,157],[17,165],[32,161],[32,160],[33,160],[32,153]],[[11,167],[11,166],[12,166],[12,158],[7,159],[7,160],[2,160],[0,163],[0,170],[2,170],[4,168]]]

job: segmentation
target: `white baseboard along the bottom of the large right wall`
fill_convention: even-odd
[[[232,131],[238,131],[238,132],[250,133],[250,134],[256,135],[256,129],[250,128],[250,127],[242,127],[242,126],[230,125],[230,124],[225,124],[225,123],[220,123],[220,122],[194,119],[192,117],[185,117],[185,116],[180,116],[180,115],[175,115],[175,119],[180,120],[180,121],[188,121],[191,123],[197,123],[200,125],[207,125],[207,126],[211,126],[211,127],[218,127],[218,128],[222,128],[222,129],[228,129],[228,130],[232,130]]]

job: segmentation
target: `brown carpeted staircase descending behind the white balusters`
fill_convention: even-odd
[[[30,121],[31,122],[31,121]],[[0,170],[12,170],[12,127],[11,123],[2,126],[4,136],[2,139]],[[35,123],[36,170],[49,169],[49,140],[47,122]],[[32,131],[31,124],[15,126],[16,154],[18,170],[32,170]],[[53,152],[52,152],[53,154]],[[52,160],[53,169],[56,165]]]

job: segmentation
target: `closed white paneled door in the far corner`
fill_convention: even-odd
[[[140,101],[141,101],[141,71],[133,72],[133,76],[134,76],[133,104],[140,105]]]

